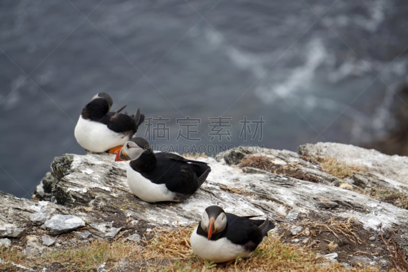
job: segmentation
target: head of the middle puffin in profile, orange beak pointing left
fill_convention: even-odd
[[[134,161],[137,160],[143,153],[150,153],[151,147],[143,138],[133,138],[125,142],[116,153],[115,161]]]

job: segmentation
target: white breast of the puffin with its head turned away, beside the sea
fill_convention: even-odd
[[[108,129],[107,125],[84,119],[81,115],[75,126],[74,135],[84,149],[99,153],[123,145],[129,140],[128,135],[114,132]]]

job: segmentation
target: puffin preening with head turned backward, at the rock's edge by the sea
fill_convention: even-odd
[[[92,97],[81,112],[74,135],[77,142],[87,151],[117,153],[131,139],[144,121],[139,108],[134,115],[120,113],[125,107],[110,112],[112,97],[99,92]]]

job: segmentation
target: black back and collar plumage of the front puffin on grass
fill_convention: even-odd
[[[243,245],[248,251],[254,251],[268,231],[275,227],[268,219],[249,219],[232,213],[225,213],[225,215],[227,223],[224,231],[213,233],[210,240],[226,237],[235,244]],[[198,223],[197,234],[207,237],[207,232],[201,228],[200,224],[201,222]]]

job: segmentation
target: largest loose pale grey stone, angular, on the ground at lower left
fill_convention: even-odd
[[[45,227],[52,235],[58,235],[85,226],[85,221],[75,215],[56,214],[45,221]]]

